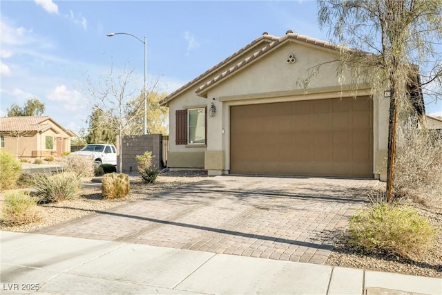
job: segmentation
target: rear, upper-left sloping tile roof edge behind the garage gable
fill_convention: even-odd
[[[258,45],[260,43],[263,43],[263,42],[272,42],[272,41],[275,41],[277,39],[278,39],[278,37],[275,37],[273,35],[269,35],[267,32],[264,32],[261,37],[258,37],[255,40],[251,41],[251,43],[247,44],[246,46],[244,46],[243,48],[238,50],[236,53],[233,53],[233,55],[230,55],[226,59],[222,60],[220,63],[216,64],[215,66],[213,66],[211,68],[209,68],[209,70],[206,70],[204,73],[202,73],[201,75],[199,75],[195,79],[191,80],[191,82],[184,84],[182,87],[178,88],[176,91],[173,91],[173,93],[171,93],[168,96],[164,97],[164,99],[160,100],[159,104],[162,105],[162,104],[166,104],[167,102],[170,102],[173,98],[175,98],[175,96],[177,94],[181,93],[182,91],[186,90],[187,88],[189,88],[190,86],[192,86],[196,82],[200,81],[200,79],[203,79],[207,75],[213,73],[213,71],[217,70],[218,68],[224,66],[229,61],[231,61],[232,59],[238,57],[239,55],[244,53],[244,51],[248,50],[249,48],[252,48],[253,46],[256,46],[256,45]]]

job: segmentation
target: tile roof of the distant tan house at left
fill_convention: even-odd
[[[68,135],[71,135],[72,132],[61,127],[49,116],[0,117],[0,132],[43,132],[52,128],[50,124],[45,123],[47,120],[50,120],[51,122],[59,126],[59,128],[68,133]]]

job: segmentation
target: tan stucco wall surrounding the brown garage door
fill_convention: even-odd
[[[287,57],[294,54],[295,64],[287,64]],[[262,104],[270,102],[288,102],[305,99],[327,99],[334,97],[366,96],[370,95],[369,87],[361,87],[358,93],[349,91],[349,86],[341,86],[336,76],[336,63],[324,64],[315,78],[311,79],[309,88],[305,91],[299,82],[307,77],[306,70],[317,64],[327,63],[335,57],[328,50],[320,50],[316,46],[287,43],[273,53],[262,57],[244,70],[207,91],[207,99],[197,97],[194,91],[188,91],[170,103],[170,151],[186,152],[185,146],[175,146],[175,110],[183,106],[198,106],[213,102],[216,106],[215,117],[207,118],[207,151],[206,160],[211,161],[204,166],[209,171],[229,170],[229,108],[242,104]],[[342,81],[350,82],[348,77]],[[382,93],[376,93],[374,99],[374,163],[373,173],[377,173],[380,166],[378,159],[382,158],[382,151],[387,149],[388,135],[388,107],[389,101]],[[212,155],[224,151],[224,164],[220,165],[213,160]],[[378,155],[378,151],[379,155]],[[212,154],[213,153],[213,154]],[[217,162],[218,164],[214,164]],[[168,166],[171,164],[168,162]]]

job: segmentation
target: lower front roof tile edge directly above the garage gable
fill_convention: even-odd
[[[313,44],[315,46],[320,46],[320,47],[332,49],[332,50],[338,50],[340,48],[340,46],[338,46],[336,44],[329,43],[327,41],[323,41],[323,40],[316,39],[316,38],[311,38],[311,37],[308,37],[305,35],[295,34],[292,32],[287,32],[286,35],[276,39],[275,41],[271,42],[271,44],[265,46],[264,48],[257,51],[256,53],[253,53],[253,55],[247,57],[246,59],[244,59],[240,63],[229,68],[229,70],[226,70],[224,73],[221,73],[220,75],[218,75],[216,77],[213,77],[213,79],[209,80],[208,82],[206,82],[202,86],[198,87],[195,90],[195,93],[198,95],[198,93],[201,93],[202,91],[204,91],[204,89],[209,88],[209,86],[212,86],[216,82],[219,82],[221,79],[224,79],[224,77],[231,75],[232,73],[236,72],[237,70],[244,68],[244,66],[247,66],[253,60],[257,59],[258,57],[260,57],[262,55],[265,55],[269,51],[273,50],[273,48],[276,48],[280,44],[285,43],[287,40],[303,41],[308,44]]]

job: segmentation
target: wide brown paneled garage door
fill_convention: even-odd
[[[231,106],[230,173],[373,178],[368,97]]]

